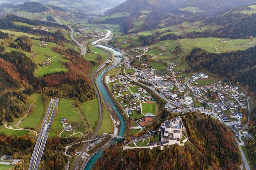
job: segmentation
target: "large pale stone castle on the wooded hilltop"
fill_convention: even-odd
[[[182,139],[182,120],[180,116],[164,121],[159,127],[159,132],[161,133],[161,142],[163,144],[180,144]]]

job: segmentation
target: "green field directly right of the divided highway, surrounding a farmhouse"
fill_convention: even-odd
[[[84,121],[85,118],[81,114],[80,110],[72,105],[72,102],[74,102],[74,100],[64,98],[61,99],[57,108],[58,111],[55,113],[56,119],[52,125],[49,137],[55,137],[63,131],[63,124],[61,122],[61,118],[63,117],[66,117],[68,124],[71,124],[72,127],[75,128],[75,132],[82,132],[85,134],[87,131],[84,127],[87,125]]]

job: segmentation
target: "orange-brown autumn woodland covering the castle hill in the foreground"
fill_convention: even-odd
[[[183,117],[193,144],[177,144],[150,149],[128,149],[123,151],[123,142],[107,148],[94,164],[94,170],[145,169],[145,170],[227,170],[236,169],[241,161],[240,152],[233,134],[227,127],[211,117],[189,113]],[[121,159],[120,159],[121,158]]]

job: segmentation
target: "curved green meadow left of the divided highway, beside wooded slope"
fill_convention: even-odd
[[[45,113],[45,106],[43,103],[43,97],[41,94],[34,93],[27,99],[27,103],[31,104],[33,112],[28,115],[20,124],[20,128],[33,127],[35,128],[43,118]],[[34,107],[36,106],[36,107]],[[48,106],[47,106],[48,107]]]

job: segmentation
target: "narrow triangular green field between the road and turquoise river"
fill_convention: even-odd
[[[111,133],[112,132],[112,121],[110,119],[110,115],[108,114],[105,107],[102,107],[103,109],[103,119],[101,122],[101,127],[99,128],[99,131],[97,132],[97,135],[100,135],[101,133]]]

